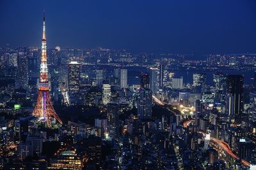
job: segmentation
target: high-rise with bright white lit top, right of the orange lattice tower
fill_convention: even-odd
[[[80,64],[72,61],[68,64],[68,91],[78,92],[80,81]]]

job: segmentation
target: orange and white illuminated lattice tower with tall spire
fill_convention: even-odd
[[[38,83],[38,94],[36,106],[33,110],[33,115],[39,117],[42,122],[45,122],[46,127],[51,127],[52,120],[56,119],[62,124],[60,118],[54,111],[49,93],[50,83],[48,80],[47,55],[46,55],[46,37],[45,37],[45,15],[43,21],[43,38],[42,38],[42,54],[40,64],[40,80]]]

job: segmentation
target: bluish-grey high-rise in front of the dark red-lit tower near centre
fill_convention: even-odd
[[[139,119],[152,118],[152,92],[150,89],[141,88],[139,90],[137,115]]]

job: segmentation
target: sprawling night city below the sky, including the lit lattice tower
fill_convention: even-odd
[[[256,169],[255,46],[48,46],[39,12],[40,46],[0,46],[0,169]]]

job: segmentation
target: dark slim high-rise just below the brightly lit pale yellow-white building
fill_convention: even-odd
[[[115,138],[119,130],[119,106],[116,103],[109,103],[107,110],[109,137]]]

